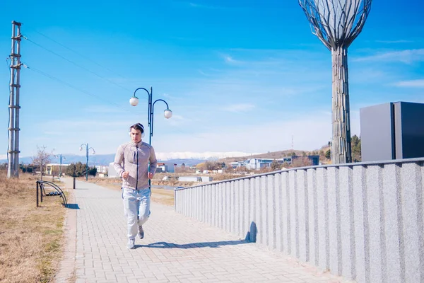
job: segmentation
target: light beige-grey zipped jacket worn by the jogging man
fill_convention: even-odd
[[[113,166],[121,178],[124,171],[129,172],[128,178],[122,179],[122,187],[140,190],[148,188],[147,172],[149,163],[150,172],[154,174],[158,161],[156,160],[153,146],[143,141],[138,144],[129,141],[118,147]]]

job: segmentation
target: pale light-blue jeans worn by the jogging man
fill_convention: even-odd
[[[149,188],[143,190],[122,189],[124,214],[130,239],[136,238],[139,226],[143,225],[150,215],[150,195]]]

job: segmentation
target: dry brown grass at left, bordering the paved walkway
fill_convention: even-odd
[[[65,209],[60,197],[36,208],[36,180],[0,171],[0,282],[52,282],[57,271]]]

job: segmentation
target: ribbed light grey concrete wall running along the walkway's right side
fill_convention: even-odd
[[[175,210],[357,282],[424,282],[424,158],[175,190]]]

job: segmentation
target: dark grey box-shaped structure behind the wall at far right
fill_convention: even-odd
[[[424,157],[424,104],[360,108],[360,141],[362,161]]]

